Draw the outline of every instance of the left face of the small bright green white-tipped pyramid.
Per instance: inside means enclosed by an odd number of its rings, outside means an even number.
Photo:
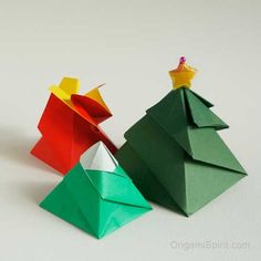
[[[100,195],[80,165],[63,178],[40,206],[94,237],[98,233]]]

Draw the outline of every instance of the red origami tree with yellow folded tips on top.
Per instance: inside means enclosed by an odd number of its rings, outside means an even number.
[[[112,114],[98,87],[85,95],[77,94],[79,80],[64,77],[51,95],[38,125],[41,139],[31,154],[65,175],[93,144],[102,140],[114,154],[116,147],[98,124]]]

